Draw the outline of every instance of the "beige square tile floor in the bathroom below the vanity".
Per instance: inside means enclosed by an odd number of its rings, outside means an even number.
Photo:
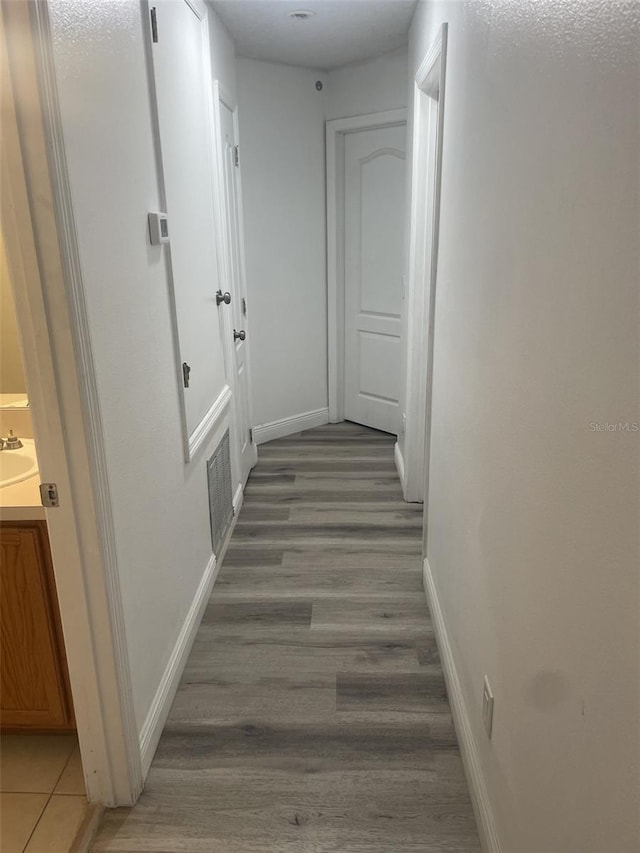
[[[69,853],[88,810],[75,735],[0,738],[2,853]]]

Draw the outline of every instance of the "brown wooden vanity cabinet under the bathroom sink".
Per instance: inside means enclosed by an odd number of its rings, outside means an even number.
[[[0,522],[0,726],[75,728],[44,521]]]

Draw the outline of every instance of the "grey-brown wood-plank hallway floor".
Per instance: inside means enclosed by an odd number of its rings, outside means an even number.
[[[260,448],[170,718],[107,851],[480,850],[393,439]]]

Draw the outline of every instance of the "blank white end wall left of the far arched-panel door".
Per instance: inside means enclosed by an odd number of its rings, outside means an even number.
[[[323,74],[239,59],[253,415],[327,407]]]

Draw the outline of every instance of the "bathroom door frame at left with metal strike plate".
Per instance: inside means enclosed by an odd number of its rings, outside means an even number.
[[[40,475],[60,499],[45,517],[86,792],[132,805],[140,742],[48,7],[0,11],[2,219]]]

